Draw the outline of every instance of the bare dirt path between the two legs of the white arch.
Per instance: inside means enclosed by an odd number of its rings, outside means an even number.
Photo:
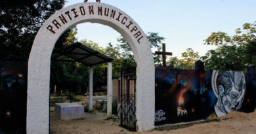
[[[84,119],[70,121],[62,121],[51,112],[50,120],[51,133],[129,133],[118,126],[118,120],[106,120],[102,112],[85,112]]]

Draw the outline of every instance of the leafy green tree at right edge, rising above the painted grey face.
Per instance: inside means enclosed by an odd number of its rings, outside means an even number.
[[[213,32],[204,40],[205,44],[219,46],[202,56],[206,69],[244,71],[248,63],[253,63],[256,22],[245,23],[235,31],[233,36],[220,31]]]

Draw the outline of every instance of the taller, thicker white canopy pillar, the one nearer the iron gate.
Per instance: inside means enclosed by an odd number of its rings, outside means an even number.
[[[113,97],[113,84],[112,84],[112,63],[108,62],[108,99],[107,99],[107,118],[112,118],[112,97]]]

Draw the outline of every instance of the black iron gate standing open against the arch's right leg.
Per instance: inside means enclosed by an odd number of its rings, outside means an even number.
[[[136,131],[136,68],[121,71],[121,126]]]

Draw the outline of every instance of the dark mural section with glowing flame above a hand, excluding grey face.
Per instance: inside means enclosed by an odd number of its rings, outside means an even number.
[[[211,89],[211,73],[156,69],[156,112],[165,113],[165,120],[156,118],[156,125],[207,118],[217,102]]]

